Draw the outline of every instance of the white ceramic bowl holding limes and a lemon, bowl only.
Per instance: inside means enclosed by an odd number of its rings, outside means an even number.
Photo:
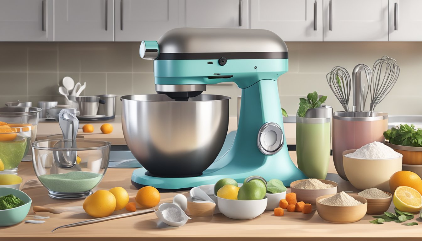
[[[231,200],[217,198],[218,208],[222,214],[232,219],[253,219],[260,216],[267,207],[268,197],[260,200]]]

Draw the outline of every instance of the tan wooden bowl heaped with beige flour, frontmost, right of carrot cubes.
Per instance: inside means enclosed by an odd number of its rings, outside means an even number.
[[[357,222],[365,216],[367,208],[367,200],[356,194],[339,192],[317,198],[319,217],[327,222]]]

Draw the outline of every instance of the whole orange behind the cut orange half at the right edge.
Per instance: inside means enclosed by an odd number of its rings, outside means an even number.
[[[398,171],[390,177],[390,190],[394,193],[397,187],[406,186],[422,194],[422,179],[411,171]]]

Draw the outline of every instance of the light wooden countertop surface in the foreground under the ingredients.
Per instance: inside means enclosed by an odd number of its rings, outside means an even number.
[[[296,153],[289,152],[292,159],[296,160]],[[129,195],[135,195],[137,190],[130,184],[133,169],[109,168],[103,181],[96,189],[110,189],[124,187]],[[32,163],[22,162],[18,174],[25,181],[35,179]],[[327,179],[338,182],[338,191],[356,191],[349,182],[342,180],[335,174],[333,161],[330,162]],[[32,198],[32,205],[59,207],[79,206],[83,200],[56,200],[49,198],[47,190],[40,186],[24,185],[23,189]],[[289,189],[288,191],[289,192]],[[171,202],[174,193],[161,193],[162,202]],[[393,211],[393,206],[390,206]],[[371,215],[359,222],[350,224],[332,224],[323,221],[317,212],[312,214],[289,213],[284,217],[275,217],[272,211],[264,212],[259,217],[250,220],[235,220],[216,214],[213,217],[193,217],[183,227],[160,228],[154,213],[143,214],[135,217],[115,219],[90,225],[64,228],[50,231],[57,226],[89,219],[84,212],[64,212],[62,214],[38,213],[50,216],[43,224],[29,224],[21,222],[12,227],[0,227],[0,240],[4,241],[46,241],[46,240],[99,240],[99,241],[127,241],[127,240],[421,240],[422,223],[418,226],[407,227],[395,222],[382,225],[369,223],[373,220]],[[25,218],[33,219],[32,209]],[[0,217],[1,218],[1,217]]]

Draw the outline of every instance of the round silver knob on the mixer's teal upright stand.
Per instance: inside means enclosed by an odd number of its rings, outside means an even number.
[[[273,155],[281,150],[284,144],[284,134],[280,126],[274,122],[267,122],[258,132],[258,149],[265,155]]]

